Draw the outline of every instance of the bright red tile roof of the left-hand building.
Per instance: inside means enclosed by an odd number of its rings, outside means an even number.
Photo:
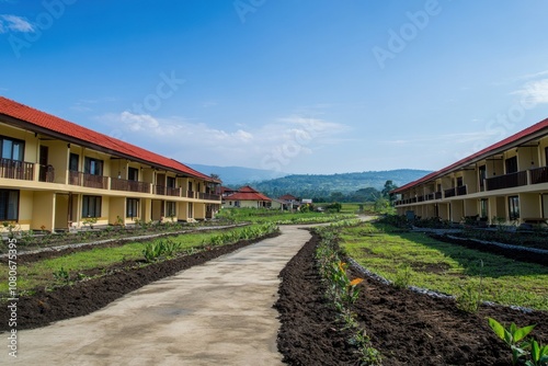
[[[127,144],[107,135],[96,133],[92,129],[82,127],[66,119],[56,117],[45,112],[32,108],[24,104],[14,102],[7,98],[0,96],[0,115],[13,117],[31,125],[44,128],[52,133],[67,136],[82,142],[91,144],[93,146],[106,149],[109,152],[116,155],[124,155],[150,163],[158,168],[183,173],[186,175],[201,178],[209,182],[219,182],[210,176],[203,174],[185,164],[160,156],[158,153],[145,150],[135,145]]]

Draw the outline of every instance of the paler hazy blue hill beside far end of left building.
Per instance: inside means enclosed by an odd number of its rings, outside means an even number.
[[[275,172],[263,169],[243,168],[243,167],[216,167],[204,164],[186,165],[197,170],[204,174],[217,174],[222,181],[224,185],[244,185],[247,183],[262,182],[287,175],[287,173]]]

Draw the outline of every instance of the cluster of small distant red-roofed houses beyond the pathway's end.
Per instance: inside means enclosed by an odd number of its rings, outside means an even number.
[[[247,207],[294,210],[298,209],[304,203],[290,194],[285,194],[278,198],[270,198],[249,185],[238,190],[222,186],[220,187],[220,194],[222,196],[222,207],[226,208]]]

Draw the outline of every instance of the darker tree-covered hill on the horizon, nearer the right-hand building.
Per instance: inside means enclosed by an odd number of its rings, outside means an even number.
[[[293,174],[253,184],[258,191],[279,197],[286,193],[298,197],[330,196],[333,192],[349,194],[373,187],[381,191],[386,181],[397,186],[415,181],[431,173],[426,170],[398,169],[342,174]]]

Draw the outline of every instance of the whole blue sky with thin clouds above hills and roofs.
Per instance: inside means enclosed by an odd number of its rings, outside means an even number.
[[[548,117],[548,2],[0,0],[0,94],[185,163],[437,170]]]

